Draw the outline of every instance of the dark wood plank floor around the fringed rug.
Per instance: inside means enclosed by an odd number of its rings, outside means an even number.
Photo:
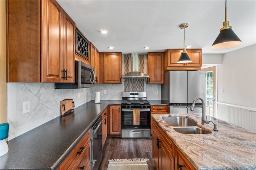
[[[152,159],[152,139],[107,138],[100,170],[108,169],[109,159],[148,158],[148,169],[156,170]]]

